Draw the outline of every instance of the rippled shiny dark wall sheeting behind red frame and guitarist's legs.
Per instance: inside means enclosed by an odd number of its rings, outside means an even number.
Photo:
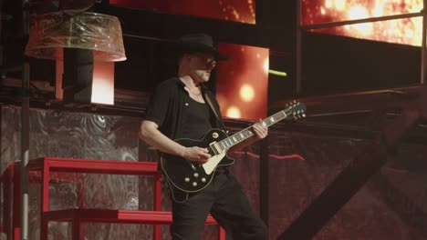
[[[20,109],[1,108],[1,167],[19,159]],[[74,157],[154,161],[155,152],[138,140],[139,117],[91,115],[32,109],[30,158]],[[269,230],[276,239],[370,141],[273,129],[269,135]],[[234,153],[231,167],[259,210],[259,145]],[[425,145],[402,145],[401,153],[351,198],[314,239],[425,239],[427,237],[427,156]],[[99,161],[102,161],[99,160]],[[378,159],[371,159],[377,161]],[[424,165],[424,167],[423,167]],[[85,175],[85,205],[94,208],[151,209],[152,179]],[[38,239],[39,185],[30,185],[29,239]],[[77,206],[76,185],[50,188],[51,209]],[[168,197],[162,198],[168,209]],[[52,223],[49,239],[69,239],[71,225]],[[151,239],[148,225],[86,225],[87,239]],[[209,226],[203,239],[215,239]],[[162,239],[169,239],[163,226]]]

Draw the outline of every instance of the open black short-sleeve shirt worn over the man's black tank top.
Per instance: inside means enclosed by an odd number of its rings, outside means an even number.
[[[182,135],[182,111],[185,105],[186,96],[188,92],[184,89],[184,84],[178,77],[172,77],[166,81],[161,82],[151,96],[147,112],[144,117],[145,120],[152,121],[159,125],[159,130],[163,135],[171,139],[185,137]],[[219,115],[219,120],[214,117],[213,125],[215,127],[224,129],[220,107],[213,93],[202,86],[203,98],[209,95],[215,108],[216,113]],[[207,101],[205,100],[207,103]],[[212,109],[211,109],[212,111]],[[211,115],[214,116],[212,113]]]

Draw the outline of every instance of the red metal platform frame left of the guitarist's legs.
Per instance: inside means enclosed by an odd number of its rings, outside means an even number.
[[[17,162],[15,169],[20,169]],[[29,171],[41,171],[41,225],[40,239],[47,240],[48,222],[72,222],[72,239],[80,239],[83,235],[81,223],[119,223],[119,224],[150,224],[154,225],[153,239],[161,239],[161,226],[172,223],[172,213],[161,211],[161,172],[157,170],[157,163],[153,162],[130,162],[117,160],[89,160],[76,158],[37,158],[28,163]],[[154,177],[154,206],[153,211],[130,211],[111,209],[65,209],[49,210],[49,179],[55,172],[80,173],[80,174],[105,174],[105,175],[151,175]],[[15,186],[19,186],[19,171],[15,171]],[[69,179],[68,179],[69,180]],[[83,182],[82,182],[83,183]],[[84,183],[83,183],[84,184]],[[14,239],[19,237],[19,187],[14,188]],[[82,190],[84,187],[82,188]],[[82,206],[83,196],[78,200]],[[205,222],[206,225],[216,225],[211,215]],[[224,229],[218,225],[218,239],[225,239]]]

